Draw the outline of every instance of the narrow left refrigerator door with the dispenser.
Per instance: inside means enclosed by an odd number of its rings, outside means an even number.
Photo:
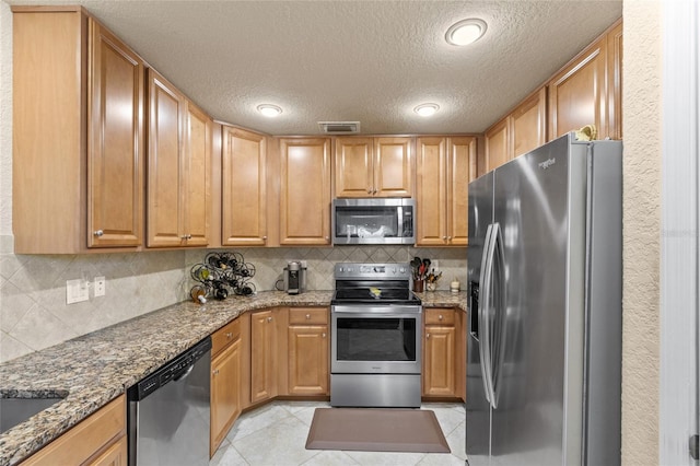
[[[493,173],[487,173],[469,184],[469,246],[467,267],[469,282],[469,322],[467,325],[467,429],[466,453],[469,466],[489,464],[491,409],[485,392],[479,349],[481,333],[478,304],[481,258],[487,229],[493,221]]]

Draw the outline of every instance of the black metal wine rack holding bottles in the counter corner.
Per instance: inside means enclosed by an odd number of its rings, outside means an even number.
[[[255,284],[250,282],[255,266],[240,253],[209,253],[201,264],[192,266],[190,276],[197,282],[189,292],[196,303],[203,304],[209,298],[225,300],[231,293],[244,296],[255,293]]]

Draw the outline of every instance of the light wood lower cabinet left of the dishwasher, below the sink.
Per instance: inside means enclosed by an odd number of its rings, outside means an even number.
[[[22,463],[26,466],[127,465],[127,405],[120,395]]]

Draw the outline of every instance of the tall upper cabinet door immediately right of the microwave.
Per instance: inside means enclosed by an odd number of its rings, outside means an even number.
[[[446,238],[446,138],[418,138],[416,168],[416,244],[442,246]]]

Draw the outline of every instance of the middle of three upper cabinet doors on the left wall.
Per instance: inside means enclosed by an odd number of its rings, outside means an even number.
[[[183,95],[149,69],[148,245],[179,246],[183,224]]]

